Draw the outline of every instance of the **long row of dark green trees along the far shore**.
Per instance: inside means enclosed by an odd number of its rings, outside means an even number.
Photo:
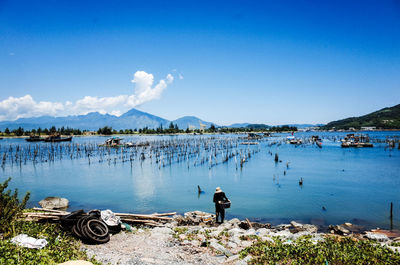
[[[80,130],[73,129],[69,127],[61,127],[56,128],[52,126],[51,128],[38,128],[32,130],[25,130],[22,127],[18,129],[10,130],[6,128],[3,131],[0,131],[0,135],[2,136],[30,136],[30,135],[113,135],[113,134],[176,134],[176,133],[246,133],[246,132],[287,132],[287,131],[297,131],[297,127],[294,126],[272,126],[272,127],[241,127],[241,128],[231,128],[231,127],[216,127],[214,124],[207,129],[189,129],[186,128],[180,129],[177,124],[173,124],[172,122],[168,127],[164,128],[160,125],[158,128],[149,128],[144,127],[141,129],[125,129],[125,130],[115,130],[110,126],[105,126],[103,128],[99,128],[97,132],[88,131],[88,130]]]

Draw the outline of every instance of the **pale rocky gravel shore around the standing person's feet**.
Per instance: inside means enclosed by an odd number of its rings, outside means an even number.
[[[360,231],[359,227],[346,223],[331,226],[323,233],[315,225],[294,221],[271,226],[234,218],[216,224],[212,217],[199,211],[175,215],[172,222],[162,226],[132,227],[131,231],[113,235],[106,244],[82,245],[82,249],[103,264],[241,265],[252,259],[243,250],[255,242],[273,242],[280,238],[283,244],[292,244],[307,236],[315,244],[327,237],[350,237],[354,241],[370,239],[400,252],[400,235],[393,231]]]

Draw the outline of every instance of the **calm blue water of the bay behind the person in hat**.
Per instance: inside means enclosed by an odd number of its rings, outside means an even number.
[[[383,143],[375,144],[374,148],[342,149],[337,140],[343,133],[319,133],[323,148],[313,144],[296,147],[282,141],[287,135],[265,138],[259,145],[251,146],[236,146],[241,142],[237,138],[243,135],[122,136],[125,141],[135,142],[184,141],[186,155],[172,157],[171,163],[167,155],[174,150],[171,145],[170,149],[164,147],[164,152],[159,151],[161,148],[149,147],[125,149],[122,154],[120,150],[88,151],[88,157],[82,149],[98,149],[97,144],[103,143],[105,137],[75,137],[71,144],[61,145],[4,139],[0,141],[0,155],[8,155],[0,168],[0,181],[12,177],[10,187],[18,188],[21,193],[30,191],[30,206],[37,205],[44,197],[60,196],[70,200],[71,210],[98,208],[135,213],[213,212],[213,192],[220,186],[232,201],[227,211],[229,217],[274,224],[297,220],[319,225],[353,222],[389,228],[389,205],[393,202],[393,226],[400,228],[397,145],[394,149],[386,148]],[[295,136],[308,139],[311,135],[297,133]],[[385,139],[400,132],[369,135]],[[231,144],[229,148],[227,143]],[[199,152],[189,154],[196,144],[202,146]],[[51,148],[59,146],[64,155],[50,161]],[[67,151],[71,146],[80,148],[79,155]],[[29,159],[34,147],[40,147],[44,156],[36,163]],[[12,162],[17,153],[25,156],[26,161]],[[226,155],[233,153],[236,155],[222,163]],[[281,163],[274,162],[275,153]],[[247,161],[241,168],[239,161],[244,156]],[[303,186],[299,186],[301,177]],[[197,185],[205,191],[200,196]]]

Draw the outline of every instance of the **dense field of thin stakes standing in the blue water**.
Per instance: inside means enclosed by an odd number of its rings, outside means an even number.
[[[173,164],[188,168],[205,166],[210,169],[234,161],[236,169],[242,168],[259,146],[241,145],[240,137],[196,137],[156,139],[137,142],[132,147],[100,146],[99,143],[21,143],[0,145],[1,167],[22,167],[63,160],[80,160],[93,163],[149,162],[159,169]]]

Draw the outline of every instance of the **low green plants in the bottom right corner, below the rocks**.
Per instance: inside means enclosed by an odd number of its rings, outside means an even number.
[[[251,255],[250,264],[400,264],[400,254],[373,241],[348,237],[326,237],[313,243],[301,237],[291,244],[279,238],[274,242],[258,241],[241,251],[241,258]]]

